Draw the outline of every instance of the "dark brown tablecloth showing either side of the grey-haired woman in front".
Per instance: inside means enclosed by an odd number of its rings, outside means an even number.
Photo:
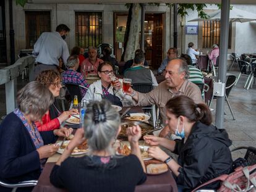
[[[56,188],[49,181],[49,175],[53,169],[55,163],[48,162],[45,164],[45,168],[40,175],[38,184],[33,188],[33,192],[65,192],[67,190]],[[171,171],[162,173],[160,175],[148,175],[147,181],[142,185],[138,185],[135,188],[136,192],[153,192],[153,191],[163,191],[163,192],[176,192],[177,185],[173,178]]]

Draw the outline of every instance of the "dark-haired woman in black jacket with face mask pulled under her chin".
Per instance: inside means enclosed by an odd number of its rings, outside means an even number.
[[[198,185],[228,174],[232,168],[229,151],[232,141],[226,130],[211,125],[211,112],[205,104],[195,104],[187,96],[177,96],[166,104],[166,124],[181,140],[171,141],[153,135],[144,136],[151,145],[149,155],[168,164],[179,191],[192,191]],[[178,154],[177,162],[158,145]],[[220,183],[207,188],[216,189]]]

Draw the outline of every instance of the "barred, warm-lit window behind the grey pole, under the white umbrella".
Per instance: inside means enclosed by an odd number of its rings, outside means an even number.
[[[203,48],[211,48],[213,44],[220,45],[220,21],[203,21]],[[229,23],[228,49],[231,49],[232,23]]]

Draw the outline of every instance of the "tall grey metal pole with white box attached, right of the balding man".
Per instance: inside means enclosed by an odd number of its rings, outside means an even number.
[[[227,59],[228,59],[228,33],[229,33],[229,7],[230,0],[221,0],[221,36],[220,36],[220,62],[218,80],[226,83]],[[225,84],[226,85],[226,84]],[[226,94],[226,93],[225,93]],[[224,128],[224,104],[225,96],[217,97],[216,119],[217,128]]]

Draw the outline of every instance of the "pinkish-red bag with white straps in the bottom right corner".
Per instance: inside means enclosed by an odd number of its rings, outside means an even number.
[[[256,192],[256,164],[247,167],[237,167],[233,173],[213,178],[212,180],[198,186],[192,192],[195,192],[210,183],[218,181],[221,182],[221,186],[217,190],[218,192]]]

